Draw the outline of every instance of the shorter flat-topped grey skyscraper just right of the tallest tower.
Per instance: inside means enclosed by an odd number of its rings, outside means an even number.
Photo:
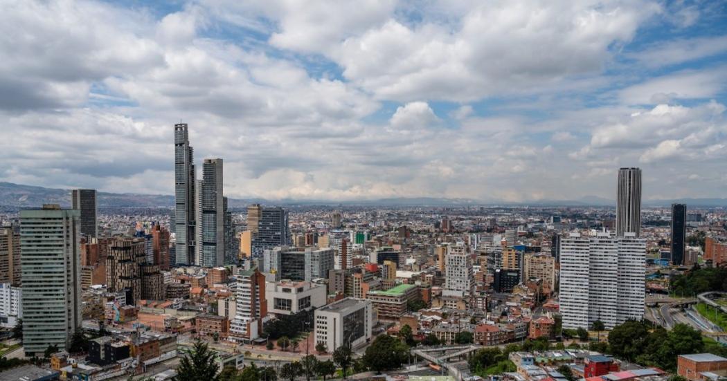
[[[222,196],[222,159],[204,159],[201,181],[201,263],[222,266],[225,262],[225,200]]]

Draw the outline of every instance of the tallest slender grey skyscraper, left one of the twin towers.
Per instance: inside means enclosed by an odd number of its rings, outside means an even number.
[[[177,265],[188,265],[195,254],[196,176],[193,149],[186,123],[174,125],[174,255]]]

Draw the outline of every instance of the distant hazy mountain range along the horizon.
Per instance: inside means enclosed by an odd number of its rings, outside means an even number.
[[[0,206],[4,208],[35,208],[47,203],[71,205],[71,190],[35,187],[31,185],[0,182]],[[170,208],[174,206],[174,196],[169,194],[137,194],[137,193],[111,193],[98,192],[99,208]],[[727,207],[724,198],[684,198],[676,200],[644,200],[644,206],[669,206],[674,202],[684,203],[694,207]],[[532,200],[526,202],[504,202],[497,200],[471,200],[462,198],[438,197],[398,197],[379,200],[264,200],[264,199],[234,199],[228,200],[230,208],[244,208],[251,203],[264,205],[361,205],[361,206],[435,206],[457,207],[478,205],[502,206],[612,206],[616,201],[597,196],[585,196],[577,200]]]

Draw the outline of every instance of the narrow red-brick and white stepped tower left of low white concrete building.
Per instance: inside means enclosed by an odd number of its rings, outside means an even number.
[[[230,324],[230,338],[238,342],[257,339],[268,315],[265,299],[265,276],[257,269],[241,270],[237,276],[235,319]]]

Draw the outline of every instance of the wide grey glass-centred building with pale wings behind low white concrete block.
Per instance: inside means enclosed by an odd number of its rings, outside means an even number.
[[[263,271],[276,274],[276,279],[310,282],[327,278],[334,269],[334,250],[318,247],[275,247],[263,254]]]

